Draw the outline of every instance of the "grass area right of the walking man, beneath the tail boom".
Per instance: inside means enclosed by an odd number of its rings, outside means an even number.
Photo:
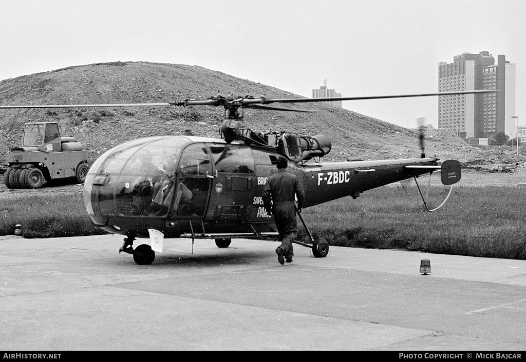
[[[426,200],[433,208],[445,197],[443,187],[431,187]],[[518,188],[457,187],[446,205],[428,212],[416,187],[396,185],[318,205],[303,216],[330,245],[526,259],[525,204]]]

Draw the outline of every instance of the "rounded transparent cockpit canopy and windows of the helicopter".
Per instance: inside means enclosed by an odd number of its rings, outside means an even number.
[[[270,156],[267,161],[270,163]],[[90,216],[203,216],[210,180],[255,173],[255,159],[245,144],[200,137],[149,137],[129,141],[104,153],[84,182]],[[183,205],[186,203],[187,207]]]

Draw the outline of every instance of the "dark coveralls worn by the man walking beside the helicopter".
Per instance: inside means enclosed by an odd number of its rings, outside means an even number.
[[[301,210],[305,201],[305,192],[295,174],[288,173],[285,169],[279,169],[278,172],[268,178],[263,202],[265,209],[274,214],[274,221],[281,241],[281,245],[278,247],[287,257],[294,255],[292,241],[296,240],[296,233],[298,232],[294,195],[297,195],[298,209]],[[272,206],[270,200],[272,200]]]

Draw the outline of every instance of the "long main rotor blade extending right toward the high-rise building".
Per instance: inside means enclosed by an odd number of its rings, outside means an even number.
[[[365,97],[329,97],[329,98],[286,98],[286,99],[268,99],[268,98],[245,98],[242,99],[242,104],[269,104],[269,103],[309,103],[309,102],[327,102],[335,100],[365,100],[365,99],[387,99],[387,98],[410,98],[410,97],[429,97],[429,96],[452,96],[462,94],[485,94],[494,93],[498,90],[464,90],[452,92],[438,92],[438,93],[422,93],[422,94],[404,94],[394,96],[365,96]]]

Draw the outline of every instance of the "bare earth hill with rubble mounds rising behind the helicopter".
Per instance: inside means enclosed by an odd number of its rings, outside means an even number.
[[[227,96],[301,98],[277,88],[199,66],[125,62],[90,64],[0,81],[0,105],[121,104],[174,102],[186,98]],[[245,110],[245,125],[256,131],[323,133],[332,140],[324,161],[418,158],[416,132],[325,104],[280,105],[319,113]],[[24,122],[57,121],[63,136],[74,136],[89,151],[89,162],[119,143],[138,137],[176,135],[219,137],[224,110],[219,107],[115,107],[0,110],[0,163],[19,145]],[[494,171],[524,172],[526,157],[509,147],[490,151],[466,144],[451,132],[437,130],[426,139],[428,157],[457,159]]]

